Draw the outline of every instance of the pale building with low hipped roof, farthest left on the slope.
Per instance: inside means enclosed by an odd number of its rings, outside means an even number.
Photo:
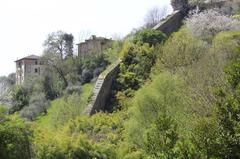
[[[44,72],[41,57],[30,55],[21,58],[16,62],[16,84],[23,84],[31,76],[41,76]]]

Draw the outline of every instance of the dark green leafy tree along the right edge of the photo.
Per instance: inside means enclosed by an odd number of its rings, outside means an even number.
[[[240,49],[239,49],[240,50]],[[240,51],[239,51],[240,53]],[[239,55],[238,55],[239,56]],[[230,90],[220,91],[217,102],[217,120],[220,129],[221,158],[240,158],[240,60],[239,57],[227,66]]]

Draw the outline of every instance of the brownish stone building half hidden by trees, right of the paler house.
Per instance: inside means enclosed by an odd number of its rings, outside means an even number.
[[[86,57],[88,55],[102,54],[106,48],[111,46],[111,43],[111,39],[96,37],[95,35],[92,35],[90,39],[77,44],[78,56]]]

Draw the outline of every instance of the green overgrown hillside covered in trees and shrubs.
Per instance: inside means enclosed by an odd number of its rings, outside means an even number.
[[[171,33],[141,28],[100,56],[61,59],[46,43],[56,63],[14,88],[13,114],[0,107],[0,158],[240,158],[240,7],[227,10],[237,4],[187,14],[184,3]],[[84,113],[113,66],[107,104]]]

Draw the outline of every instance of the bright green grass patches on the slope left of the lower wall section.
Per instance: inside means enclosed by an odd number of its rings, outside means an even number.
[[[94,85],[93,83],[90,83],[85,84],[81,87],[81,94],[79,95],[80,103],[78,104],[79,107],[81,107],[83,110],[88,103],[89,96],[92,94],[93,85]],[[37,120],[35,121],[35,124],[42,128],[54,129],[54,126],[52,124],[52,118],[59,112],[59,109],[61,109],[62,105],[65,104],[66,100],[64,99],[64,97],[53,100],[48,109],[47,115],[42,115],[38,117]]]

